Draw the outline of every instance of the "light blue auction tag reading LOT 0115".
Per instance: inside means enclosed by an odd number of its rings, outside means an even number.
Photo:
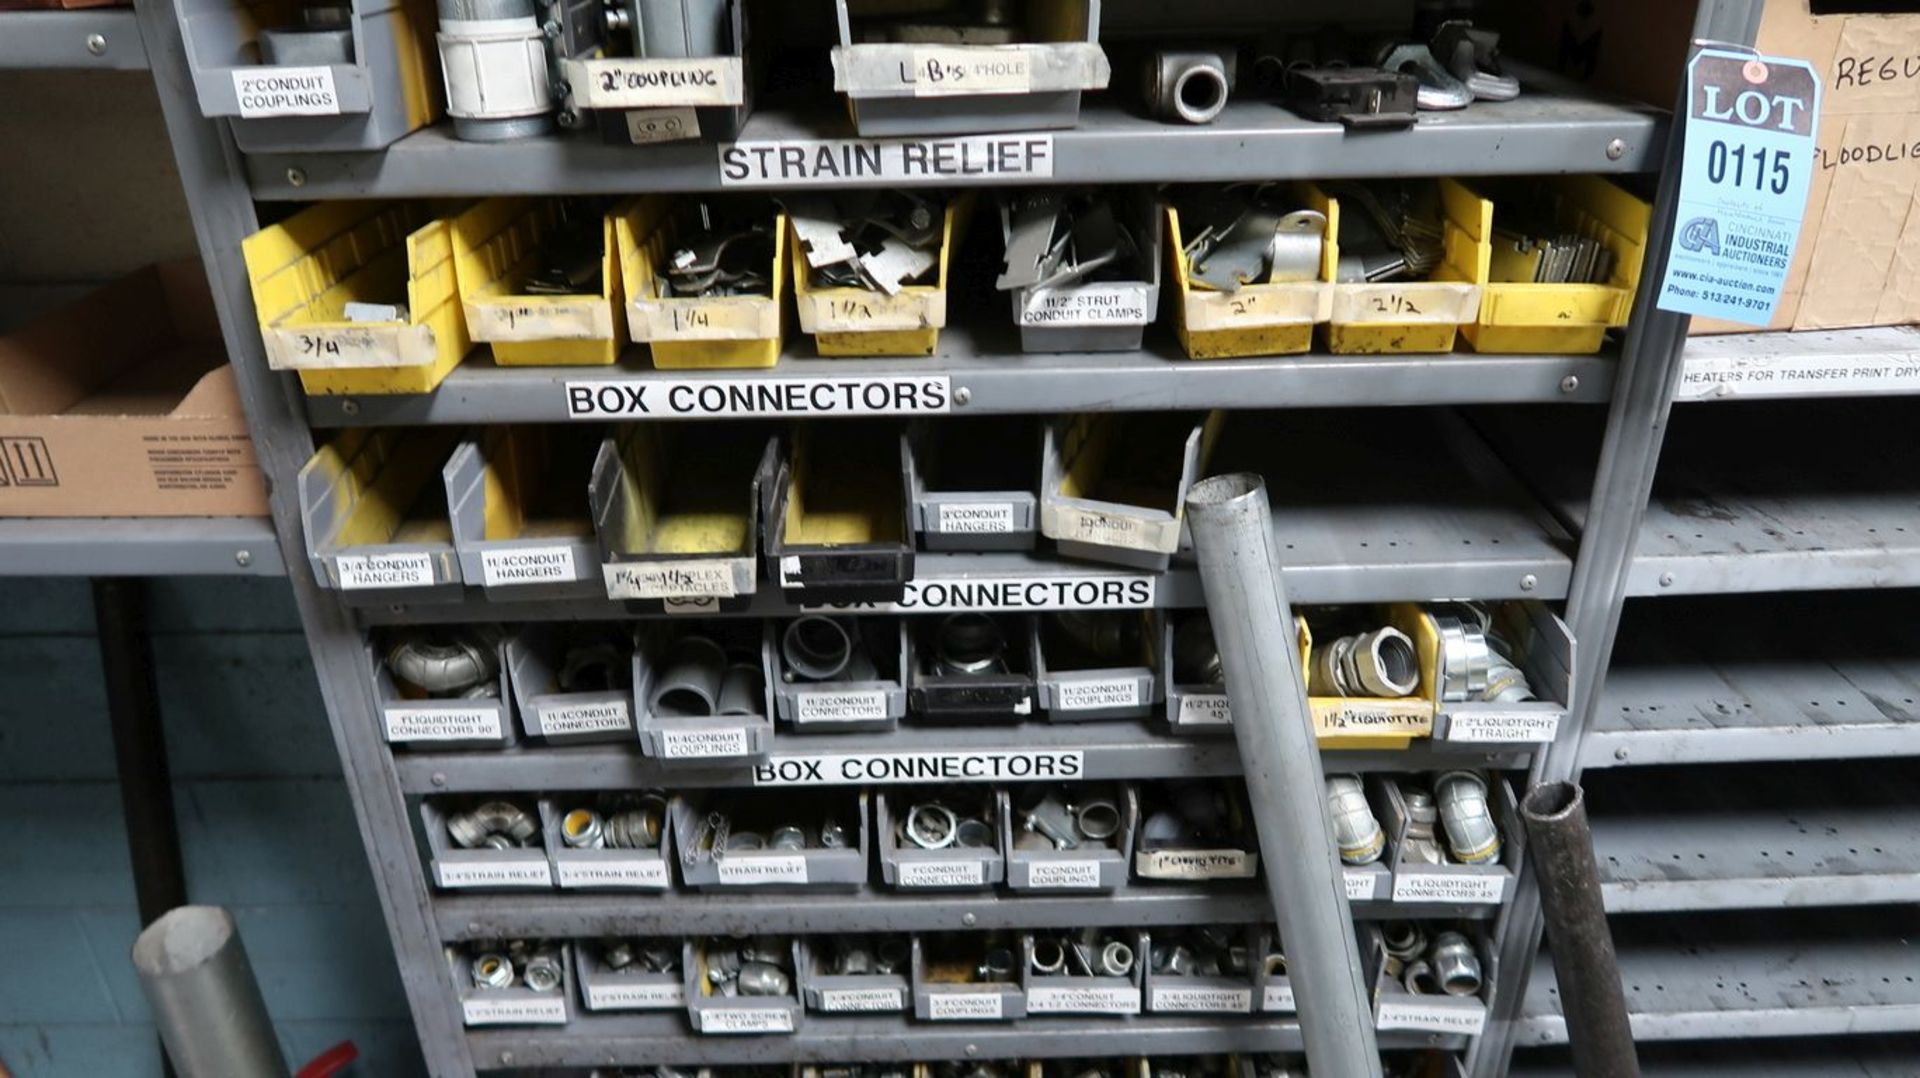
[[[1772,321],[1807,213],[1818,121],[1820,79],[1805,60],[1693,56],[1663,309]]]

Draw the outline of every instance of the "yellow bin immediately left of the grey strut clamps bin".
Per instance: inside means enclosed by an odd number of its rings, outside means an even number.
[[[816,288],[799,236],[789,236],[801,331],[814,336],[822,355],[933,355],[947,327],[947,263],[972,215],[972,192],[947,200],[941,267],[933,284],[908,284],[897,296],[866,288]]]

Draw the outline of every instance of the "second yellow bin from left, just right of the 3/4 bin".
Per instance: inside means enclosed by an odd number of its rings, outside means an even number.
[[[526,277],[540,265],[540,246],[563,225],[553,198],[488,198],[453,219],[461,298],[474,340],[493,346],[501,367],[607,367],[626,346],[620,309],[620,259],[614,219],[601,219],[601,286],[597,294],[528,296]]]

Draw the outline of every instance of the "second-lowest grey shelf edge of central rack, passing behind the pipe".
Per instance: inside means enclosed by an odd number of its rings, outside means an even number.
[[[1486,920],[1500,905],[1354,903],[1367,920]],[[1129,884],[1112,895],[925,894],[862,888],[847,894],[515,894],[434,897],[444,940],[733,936],[743,932],[943,932],[1058,924],[1269,924],[1260,884]]]

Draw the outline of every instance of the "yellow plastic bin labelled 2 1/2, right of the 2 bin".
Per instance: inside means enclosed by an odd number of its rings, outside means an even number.
[[[1327,350],[1342,355],[1452,352],[1459,327],[1480,311],[1476,273],[1486,265],[1494,234],[1494,204],[1463,184],[1432,181],[1446,234],[1444,261],[1427,281],[1342,282],[1340,223],[1357,208],[1319,186],[1306,204],[1327,215],[1325,277],[1332,281]]]

